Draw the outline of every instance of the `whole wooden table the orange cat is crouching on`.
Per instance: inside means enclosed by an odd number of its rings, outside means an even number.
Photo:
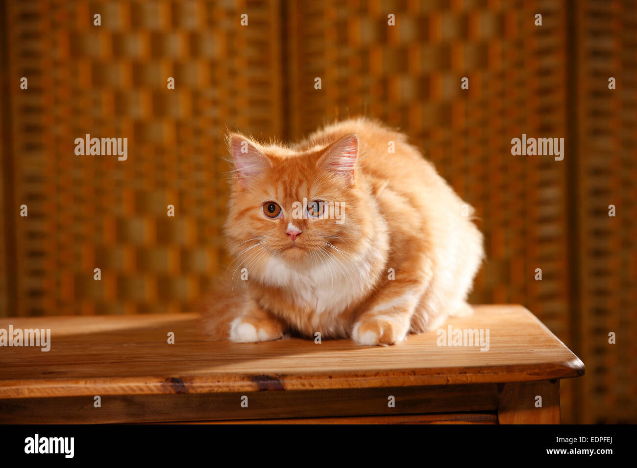
[[[215,343],[196,314],[2,318],[50,329],[51,347],[0,347],[0,422],[559,423],[559,379],[582,361],[522,306],[474,309],[443,329],[489,330],[488,351],[436,332]]]

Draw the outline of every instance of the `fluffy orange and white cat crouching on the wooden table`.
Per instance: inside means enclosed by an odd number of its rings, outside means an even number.
[[[205,306],[212,339],[387,346],[471,313],[474,210],[404,134],[359,117],[294,145],[231,133],[228,146],[234,260]]]

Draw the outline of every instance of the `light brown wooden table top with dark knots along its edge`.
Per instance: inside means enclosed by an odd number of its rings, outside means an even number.
[[[584,373],[582,361],[517,305],[474,306],[473,315],[387,347],[347,339],[213,342],[192,313],[0,318],[0,329],[10,325],[50,329],[50,351],[0,347],[0,399],[501,383]],[[454,346],[441,331],[450,329],[455,344],[472,335],[462,330],[479,336],[482,329],[484,346]],[[488,350],[481,351],[487,331]]]

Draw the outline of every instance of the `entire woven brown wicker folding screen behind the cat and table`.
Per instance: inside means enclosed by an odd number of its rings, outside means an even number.
[[[562,421],[637,422],[635,1],[0,5],[0,316],[191,310],[225,263],[224,129],[363,113],[477,209],[471,300],[524,304],[582,357]],[[77,157],[86,133],[127,137],[129,159]],[[523,133],[566,157],[512,156]]]

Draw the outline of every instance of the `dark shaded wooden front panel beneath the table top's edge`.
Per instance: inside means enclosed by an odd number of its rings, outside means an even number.
[[[389,396],[394,406],[389,406]],[[247,400],[243,400],[247,397]],[[247,401],[247,407],[241,402]],[[0,399],[1,423],[131,423],[497,411],[497,384]]]

